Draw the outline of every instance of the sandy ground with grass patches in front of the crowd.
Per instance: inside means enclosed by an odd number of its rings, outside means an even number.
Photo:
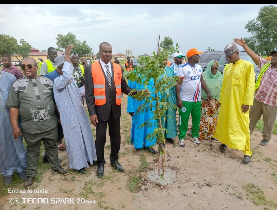
[[[177,177],[172,183],[161,186],[147,177],[149,171],[157,170],[157,155],[145,150],[136,151],[128,143],[131,117],[126,113],[126,103],[127,96],[124,95],[119,154],[119,162],[125,169],[123,173],[115,171],[109,164],[110,146],[107,135],[105,174],[102,178],[96,176],[96,166],[88,168],[86,174],[71,171],[67,176],[54,174],[49,168],[42,175],[41,182],[35,181],[30,188],[33,191],[47,190],[47,193],[9,193],[0,197],[0,209],[277,209],[276,135],[273,135],[268,146],[260,146],[262,133],[253,133],[253,155],[249,164],[241,162],[242,151],[227,148],[225,153],[220,153],[219,141],[201,140],[201,145],[195,146],[187,135],[186,146],[181,148],[178,146],[178,138],[175,138],[176,145],[166,144],[165,167],[175,169]],[[93,133],[95,134],[94,128]],[[154,148],[157,149],[157,146]],[[59,157],[63,164],[66,163],[64,167],[68,168],[66,151],[59,151]],[[150,165],[139,172],[141,157],[145,157]],[[132,193],[128,183],[130,178],[139,175],[139,187]],[[23,184],[22,181],[12,189],[24,189]],[[252,190],[260,189],[259,199],[257,196],[252,199],[250,186],[255,186]],[[19,203],[10,204],[10,198],[19,198],[15,200]]]

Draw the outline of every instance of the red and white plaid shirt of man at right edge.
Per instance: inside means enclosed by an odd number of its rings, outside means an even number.
[[[263,67],[266,62],[268,60],[261,58],[259,65]],[[260,87],[256,90],[255,98],[266,105],[277,106],[277,69],[273,69],[271,64],[261,77]]]

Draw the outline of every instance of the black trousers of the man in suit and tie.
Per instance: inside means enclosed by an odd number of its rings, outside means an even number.
[[[118,159],[118,153],[120,150],[120,118],[114,119],[111,110],[109,119],[107,121],[98,120],[98,123],[96,123],[95,148],[97,164],[99,166],[106,163],[104,159],[104,146],[106,144],[107,123],[109,124],[109,136],[111,139],[111,163],[114,163]]]

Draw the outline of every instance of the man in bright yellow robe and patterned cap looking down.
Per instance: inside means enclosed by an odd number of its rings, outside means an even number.
[[[232,42],[224,48],[228,64],[225,66],[220,91],[220,110],[214,137],[226,147],[242,150],[243,163],[251,161],[249,107],[253,105],[255,91],[254,65],[242,60],[237,45]]]

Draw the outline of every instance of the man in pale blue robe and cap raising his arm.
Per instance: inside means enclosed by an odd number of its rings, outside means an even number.
[[[89,168],[88,163],[93,164],[96,150],[81,94],[72,77],[74,68],[68,62],[71,48],[73,45],[68,45],[65,55],[55,59],[60,77],[54,80],[53,90],[63,127],[69,166],[79,173],[86,173],[84,168]]]

